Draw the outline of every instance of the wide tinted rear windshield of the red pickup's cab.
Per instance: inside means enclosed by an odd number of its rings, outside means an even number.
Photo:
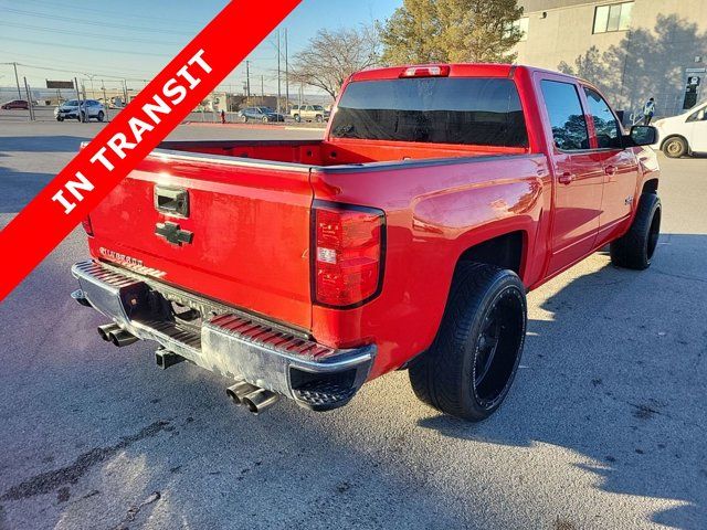
[[[348,85],[335,138],[527,147],[518,91],[507,78],[424,77]]]

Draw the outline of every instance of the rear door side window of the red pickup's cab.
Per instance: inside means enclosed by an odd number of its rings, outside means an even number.
[[[540,83],[540,87],[555,145],[563,151],[589,149],[587,119],[577,87],[570,83],[547,80]]]

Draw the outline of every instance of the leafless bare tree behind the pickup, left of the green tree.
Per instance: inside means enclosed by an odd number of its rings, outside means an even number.
[[[379,46],[373,28],[319,30],[294,56],[292,78],[336,97],[349,75],[379,63]]]

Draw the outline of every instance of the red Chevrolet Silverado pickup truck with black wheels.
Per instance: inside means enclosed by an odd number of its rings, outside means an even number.
[[[348,403],[408,369],[478,421],[514,380],[526,292],[611,244],[651,264],[655,129],[591,84],[526,66],[352,75],[324,140],[170,141],[84,223],[73,297],[116,346],[159,343],[258,412]]]

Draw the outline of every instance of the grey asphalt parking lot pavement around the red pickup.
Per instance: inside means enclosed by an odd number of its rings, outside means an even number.
[[[97,127],[0,125],[0,224]],[[274,135],[176,131],[217,134]],[[217,375],[161,372],[68,300],[77,230],[0,305],[0,528],[707,528],[707,160],[663,167],[654,266],[597,254],[530,294],[523,369],[477,425],[404,372],[257,417]]]

